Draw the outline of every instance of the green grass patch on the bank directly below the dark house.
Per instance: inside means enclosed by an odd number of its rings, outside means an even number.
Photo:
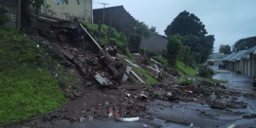
[[[96,24],[88,24],[88,23],[83,23],[85,26],[89,28],[90,33],[96,36],[100,36],[98,32],[98,26]],[[101,25],[101,40],[100,43],[103,46],[107,46],[107,32],[108,32],[108,26]],[[128,49],[127,43],[126,43],[126,37],[123,32],[118,32],[115,28],[111,28],[111,37],[110,37],[111,42],[114,42],[119,46],[120,48],[124,49],[126,52],[126,56],[130,60],[135,60],[133,56],[130,54],[130,51]]]

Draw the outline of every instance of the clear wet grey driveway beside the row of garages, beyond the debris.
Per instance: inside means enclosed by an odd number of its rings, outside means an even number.
[[[228,89],[233,89],[242,93],[255,93],[256,87],[252,86],[251,78],[245,75],[238,75],[234,72],[218,69],[218,66],[210,66],[216,72],[228,72],[229,74],[217,73],[212,78],[217,80],[229,81],[227,84]]]

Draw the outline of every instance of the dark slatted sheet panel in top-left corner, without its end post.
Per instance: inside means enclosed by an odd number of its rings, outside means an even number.
[[[18,13],[18,0],[0,0],[0,6],[8,9],[8,15],[11,19],[4,26],[6,27],[17,27],[17,13]]]

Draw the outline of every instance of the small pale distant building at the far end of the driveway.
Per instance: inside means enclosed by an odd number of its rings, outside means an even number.
[[[227,56],[229,56],[229,54],[213,53],[210,55],[210,58],[207,60],[207,63],[210,65],[219,65],[222,63],[222,60]]]

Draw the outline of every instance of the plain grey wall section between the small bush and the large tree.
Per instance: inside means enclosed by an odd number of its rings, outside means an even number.
[[[150,52],[161,53],[166,49],[167,38],[157,33],[152,33],[151,35],[148,39],[142,39],[140,47],[146,48]]]

